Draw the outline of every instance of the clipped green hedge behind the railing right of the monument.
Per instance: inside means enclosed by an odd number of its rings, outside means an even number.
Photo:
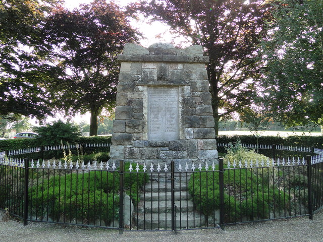
[[[236,143],[238,140],[243,144],[256,144],[257,137],[253,135],[219,135],[217,143]],[[258,144],[261,145],[286,145],[286,146],[314,146],[315,148],[323,148],[323,136],[260,136]]]

